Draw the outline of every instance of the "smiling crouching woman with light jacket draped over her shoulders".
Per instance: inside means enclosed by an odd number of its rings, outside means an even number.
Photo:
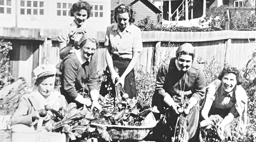
[[[217,134],[220,139],[231,141],[230,123],[240,117],[239,130],[243,132],[247,118],[247,95],[241,82],[240,72],[234,67],[224,67],[218,80],[206,88],[206,98],[202,109],[201,127],[212,124],[218,119]]]

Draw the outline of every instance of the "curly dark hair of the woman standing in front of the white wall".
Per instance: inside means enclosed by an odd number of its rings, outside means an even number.
[[[70,16],[74,16],[74,13],[76,11],[80,11],[82,9],[87,11],[87,19],[88,19],[91,15],[92,6],[86,1],[79,1],[77,3],[74,3],[70,9]]]

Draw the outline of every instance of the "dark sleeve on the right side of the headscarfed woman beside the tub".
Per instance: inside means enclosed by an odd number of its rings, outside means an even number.
[[[98,89],[97,85],[97,59],[96,55],[92,56],[92,60],[89,65],[89,78],[86,82],[89,91]]]

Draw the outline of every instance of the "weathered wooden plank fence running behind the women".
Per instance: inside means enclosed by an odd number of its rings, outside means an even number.
[[[13,43],[11,69],[15,78],[24,76],[31,80],[32,70],[41,63],[57,64],[59,59],[56,29],[29,29],[0,27],[0,39]],[[196,58],[202,61],[216,59],[238,68],[245,64],[256,49],[256,31],[215,32],[142,32],[143,52],[135,69],[144,66],[148,70],[167,57],[175,57],[177,47],[191,42],[196,47]],[[98,71],[106,68],[104,32],[98,32],[100,47],[97,49]],[[12,56],[15,56],[12,57]],[[26,67],[26,68],[24,68]],[[24,71],[25,70],[25,71]]]

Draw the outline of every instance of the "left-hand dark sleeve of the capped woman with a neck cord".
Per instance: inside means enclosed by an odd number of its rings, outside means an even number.
[[[166,78],[166,74],[168,71],[168,65],[163,62],[159,68],[158,68],[158,72],[156,74],[156,87],[155,90],[158,91],[158,94],[165,96],[166,95],[166,91],[164,90],[164,82],[165,82],[165,78]]]

